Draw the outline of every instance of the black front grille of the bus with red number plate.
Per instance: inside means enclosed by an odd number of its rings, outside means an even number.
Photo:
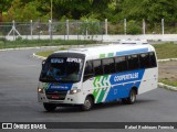
[[[64,100],[67,91],[46,91],[46,98],[52,100]]]

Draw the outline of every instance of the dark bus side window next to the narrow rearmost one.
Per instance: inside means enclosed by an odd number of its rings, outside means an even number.
[[[150,67],[150,62],[149,62],[149,54],[148,53],[144,53],[139,55],[139,64],[140,64],[140,68],[148,68]]]

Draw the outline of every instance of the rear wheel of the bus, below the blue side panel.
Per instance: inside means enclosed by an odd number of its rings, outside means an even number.
[[[122,99],[122,102],[124,105],[133,105],[133,103],[135,103],[136,102],[136,90],[132,89],[131,92],[129,92],[129,97]]]

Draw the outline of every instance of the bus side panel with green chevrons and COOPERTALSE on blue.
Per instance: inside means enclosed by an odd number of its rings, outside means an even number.
[[[83,82],[83,92],[93,95],[94,102],[127,98],[133,87],[139,87],[145,69],[93,77]]]

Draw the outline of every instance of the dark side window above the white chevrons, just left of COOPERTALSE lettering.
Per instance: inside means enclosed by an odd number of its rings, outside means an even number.
[[[103,59],[102,62],[103,62],[104,74],[115,73],[114,58],[106,58]]]

